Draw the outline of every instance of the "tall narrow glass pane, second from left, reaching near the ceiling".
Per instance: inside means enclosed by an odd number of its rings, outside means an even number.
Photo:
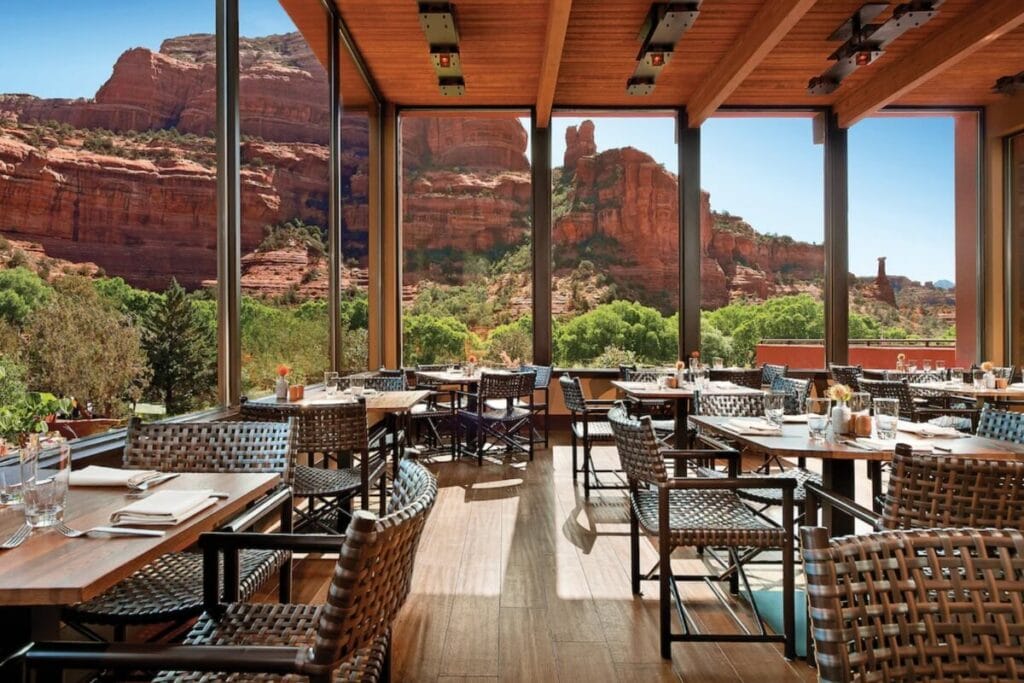
[[[278,2],[240,3],[243,393],[323,381],[328,358],[327,14],[297,27]],[[307,41],[306,36],[310,36]]]

